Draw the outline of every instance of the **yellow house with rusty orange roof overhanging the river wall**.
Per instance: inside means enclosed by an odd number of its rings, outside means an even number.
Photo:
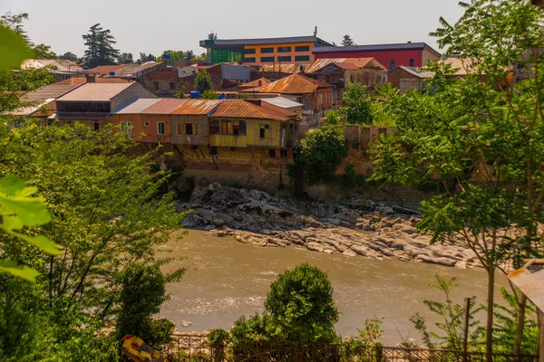
[[[222,100],[211,115],[209,145],[213,148],[276,149],[287,155],[296,138],[296,113],[261,100]],[[272,157],[272,156],[270,156]],[[287,156],[285,156],[287,157]]]

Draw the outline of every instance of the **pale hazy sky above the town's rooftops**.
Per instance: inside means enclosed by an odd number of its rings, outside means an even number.
[[[34,43],[57,53],[83,55],[82,34],[93,24],[110,29],[121,52],[160,55],[192,49],[213,30],[219,39],[311,35],[340,43],[349,33],[357,44],[425,42],[443,16],[455,23],[459,0],[0,0],[0,14],[28,13],[25,24]],[[438,49],[437,49],[438,50]]]

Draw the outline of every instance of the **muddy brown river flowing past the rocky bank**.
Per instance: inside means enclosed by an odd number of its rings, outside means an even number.
[[[486,295],[486,274],[481,270],[346,257],[297,246],[262,248],[199,230],[189,230],[181,240],[172,238],[167,246],[170,257],[186,259],[170,264],[165,271],[183,266],[187,272],[180,282],[168,285],[170,300],[162,306],[160,316],[177,323],[180,331],[230,329],[239,316],[261,312],[270,282],[301,262],[326,271],[333,282],[336,306],[341,311],[336,324],[339,334],[357,334],[364,319],[375,314],[384,317],[381,340],[386,345],[400,342],[401,335],[421,340],[408,320],[415,312],[429,322],[438,321],[423,305],[426,299],[443,299],[441,291],[428,286],[435,281],[435,273],[457,278],[460,286],[453,299],[460,303],[473,295],[484,302]],[[506,278],[500,275],[498,282],[505,285]],[[181,321],[192,325],[181,327]]]

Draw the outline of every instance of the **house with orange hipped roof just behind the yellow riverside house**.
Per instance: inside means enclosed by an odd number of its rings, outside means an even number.
[[[325,110],[333,107],[334,85],[316,81],[300,74],[292,74],[279,81],[273,81],[259,90],[259,95],[281,95],[289,100],[304,104],[303,122],[317,124]]]

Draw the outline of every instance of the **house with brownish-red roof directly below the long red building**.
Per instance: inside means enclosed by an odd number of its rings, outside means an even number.
[[[317,59],[306,68],[305,74],[317,81],[335,85],[333,102],[342,100],[349,83],[363,84],[369,92],[374,85],[382,86],[387,80],[387,69],[374,58]]]

